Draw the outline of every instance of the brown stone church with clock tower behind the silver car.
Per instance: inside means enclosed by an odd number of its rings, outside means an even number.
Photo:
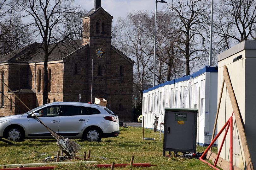
[[[131,121],[135,62],[111,45],[112,19],[101,0],[94,0],[94,8],[82,17],[83,39],[61,44],[50,54],[48,103],[78,102],[79,94],[86,103],[104,98],[119,119]],[[33,43],[0,56],[0,78],[30,109],[43,104],[42,47]],[[0,116],[27,111],[3,84],[0,91]]]

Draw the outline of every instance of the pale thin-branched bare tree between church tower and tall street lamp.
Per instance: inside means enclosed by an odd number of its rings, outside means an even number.
[[[115,29],[115,41],[117,48],[127,56],[135,60],[133,84],[140,91],[142,100],[143,86],[150,82],[153,68],[153,42],[147,22],[147,13],[129,13],[126,19],[119,19]]]

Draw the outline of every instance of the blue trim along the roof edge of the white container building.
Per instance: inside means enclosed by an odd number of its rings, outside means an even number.
[[[171,81],[161,83],[161,84],[159,84],[159,85],[157,85],[153,88],[149,88],[148,90],[143,90],[143,93],[148,93],[149,91],[152,91],[154,89],[157,89],[157,88],[160,88],[160,87],[163,87],[163,86],[166,86],[166,85],[175,84],[177,82],[182,82],[182,81],[187,81],[187,80],[190,79],[190,77],[197,77],[197,76],[200,76],[201,74],[203,74],[205,72],[218,72],[218,67],[205,66],[201,70],[199,70],[199,71],[197,71],[193,74],[190,74],[188,76],[183,76],[183,77],[171,80]]]

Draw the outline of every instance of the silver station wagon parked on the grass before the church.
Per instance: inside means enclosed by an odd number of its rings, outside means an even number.
[[[101,141],[104,137],[119,135],[118,116],[104,106],[54,102],[37,107],[32,112],[51,130],[65,138]],[[30,111],[1,117],[0,137],[11,141],[53,138]]]

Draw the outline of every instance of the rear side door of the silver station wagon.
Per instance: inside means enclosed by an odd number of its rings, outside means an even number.
[[[90,115],[86,107],[82,106],[63,106],[61,114],[59,135],[76,136],[78,135],[89,120]]]

